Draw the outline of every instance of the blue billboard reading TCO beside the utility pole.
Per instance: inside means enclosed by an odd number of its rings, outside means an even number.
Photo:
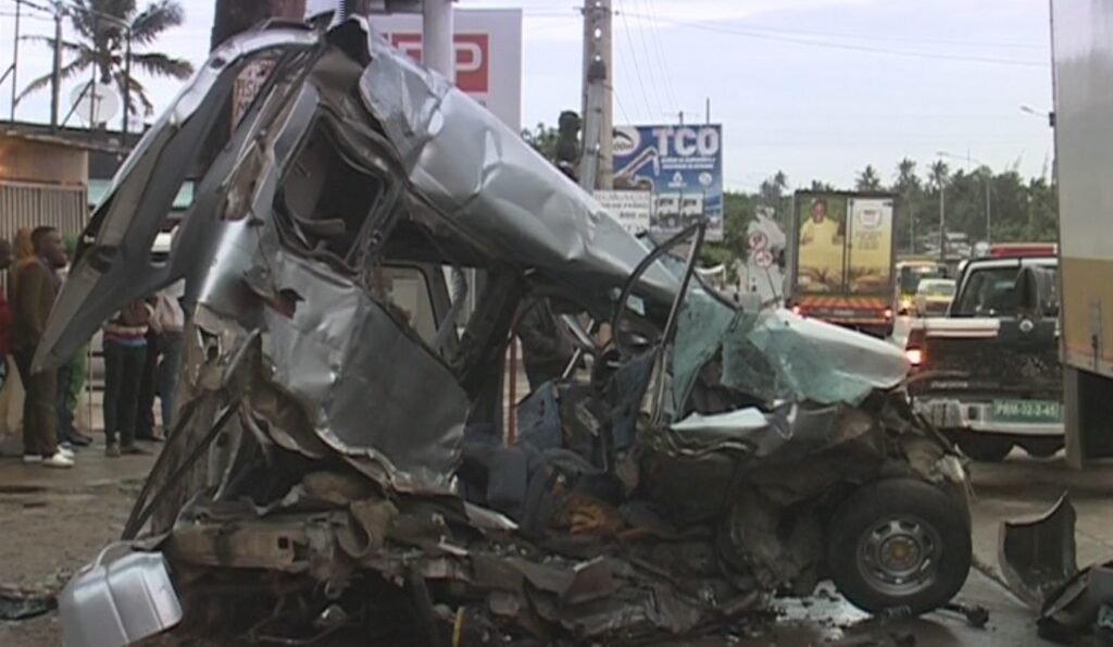
[[[653,195],[650,231],[679,232],[708,220],[708,239],[722,239],[722,127],[614,128],[614,187]]]

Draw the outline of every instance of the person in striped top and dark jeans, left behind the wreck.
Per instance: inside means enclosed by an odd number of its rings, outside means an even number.
[[[136,416],[151,311],[140,300],[105,324],[105,454],[111,458],[148,453],[136,444]]]

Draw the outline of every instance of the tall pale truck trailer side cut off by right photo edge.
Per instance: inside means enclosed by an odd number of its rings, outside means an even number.
[[[1113,455],[1113,3],[1053,0],[1067,461]]]

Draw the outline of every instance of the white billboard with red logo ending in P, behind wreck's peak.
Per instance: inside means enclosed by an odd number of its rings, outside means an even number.
[[[420,14],[372,14],[368,20],[394,47],[421,61]],[[453,24],[456,86],[518,133],[522,129],[521,9],[457,9]]]

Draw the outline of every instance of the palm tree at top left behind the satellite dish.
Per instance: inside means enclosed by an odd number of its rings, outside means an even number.
[[[127,109],[132,115],[138,112],[137,101],[142,105],[145,115],[154,111],[147,90],[134,76],[135,70],[175,79],[185,79],[194,71],[194,66],[185,59],[142,51],[156,45],[164,31],[183,23],[185,10],[178,0],[154,0],[142,11],[138,10],[135,0],[70,0],[63,9],[77,32],[77,40],[62,40],[62,51],[72,58],[61,67],[61,80],[80,78],[82,73],[95,71],[100,82],[116,85],[121,96],[127,95]],[[129,32],[130,81],[125,73],[128,69],[125,59]],[[36,40],[55,47],[53,38],[36,37]],[[47,87],[50,80],[51,75],[35,79],[23,89],[20,98]]]

